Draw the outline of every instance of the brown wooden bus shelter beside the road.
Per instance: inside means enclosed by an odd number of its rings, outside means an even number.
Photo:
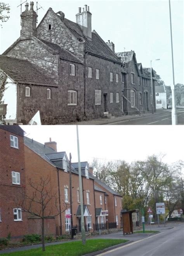
[[[133,221],[132,221],[132,213],[139,212],[139,210],[128,210],[122,211],[122,221],[123,221],[123,235],[129,234],[132,232],[133,234]]]

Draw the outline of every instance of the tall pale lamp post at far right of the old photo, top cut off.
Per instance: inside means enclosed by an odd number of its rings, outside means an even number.
[[[176,103],[175,103],[175,81],[174,81],[174,58],[173,58],[173,46],[172,46],[172,23],[171,23],[171,9],[170,9],[170,0],[169,0],[169,16],[170,16],[170,39],[171,39],[171,53],[172,53],[172,76],[173,84],[171,86],[172,90],[172,125],[177,124],[177,112],[176,112]]]

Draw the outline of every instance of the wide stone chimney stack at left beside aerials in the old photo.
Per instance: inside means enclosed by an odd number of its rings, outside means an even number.
[[[29,4],[25,4],[26,10],[21,14],[21,37],[33,37],[36,36],[36,19],[38,15],[33,10],[34,2],[30,2],[30,10]]]

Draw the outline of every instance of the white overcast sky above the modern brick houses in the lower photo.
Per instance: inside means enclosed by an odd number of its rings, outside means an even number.
[[[40,143],[57,142],[57,151],[66,151],[72,161],[78,161],[75,125],[21,126],[26,136]],[[170,164],[184,160],[182,126],[123,126],[81,125],[79,129],[80,160],[145,160],[152,154],[166,154],[163,161]]]

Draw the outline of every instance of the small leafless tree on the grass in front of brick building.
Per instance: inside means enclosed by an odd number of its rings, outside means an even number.
[[[50,177],[41,177],[38,182],[28,179],[28,185],[21,193],[21,200],[16,201],[17,207],[23,212],[42,219],[42,250],[45,251],[45,219],[56,217],[64,212],[67,207],[63,203],[63,209],[59,210],[59,198],[57,192],[53,192],[50,185]],[[20,197],[19,197],[20,198]]]

